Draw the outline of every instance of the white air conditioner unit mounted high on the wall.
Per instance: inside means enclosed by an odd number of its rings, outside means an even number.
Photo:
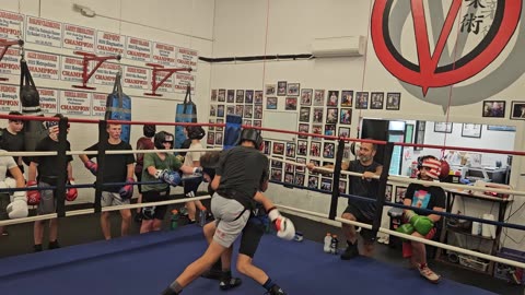
[[[365,47],[364,36],[316,38],[312,43],[312,55],[316,58],[360,57],[364,55]]]

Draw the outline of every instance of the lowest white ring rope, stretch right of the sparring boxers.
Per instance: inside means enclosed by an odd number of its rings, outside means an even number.
[[[287,211],[294,211],[294,212],[299,212],[299,213],[303,213],[303,214],[314,215],[314,216],[322,217],[322,219],[328,219],[328,216],[326,214],[320,214],[320,213],[317,213],[317,212],[306,211],[306,210],[302,210],[302,209],[294,209],[294,208],[291,208],[291,206],[278,205],[278,204],[277,204],[277,206],[278,208],[283,208]],[[354,226],[360,226],[362,228],[372,229],[371,224],[354,222],[354,221],[345,220],[345,219],[341,219],[341,217],[336,217],[336,221],[339,221],[339,222],[346,223],[346,224],[350,224],[350,225],[354,225]],[[458,253],[465,253],[465,255],[478,257],[478,258],[494,261],[494,262],[500,262],[500,263],[516,267],[516,268],[522,268],[522,269],[525,268],[525,263],[523,263],[523,262],[518,262],[518,261],[514,261],[514,260],[510,260],[510,259],[505,259],[505,258],[501,258],[501,257],[497,257],[497,256],[492,256],[492,255],[481,253],[481,252],[477,252],[477,251],[451,246],[451,245],[443,244],[443,243],[438,243],[438,241],[425,239],[425,238],[420,238],[420,237],[416,237],[416,236],[411,236],[411,235],[400,234],[396,231],[392,231],[392,229],[388,229],[388,228],[385,228],[385,227],[380,227],[378,232],[385,233],[385,234],[388,234],[388,235],[392,235],[392,236],[400,237],[400,238],[404,238],[404,239],[410,239],[410,240],[419,241],[419,243],[422,243],[422,244],[425,244],[425,245],[439,247],[439,248],[442,248],[442,249],[445,249],[445,250],[455,251],[455,252],[458,252]]]

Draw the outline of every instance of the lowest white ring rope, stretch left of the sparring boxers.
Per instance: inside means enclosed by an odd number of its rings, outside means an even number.
[[[151,202],[151,203],[136,203],[136,204],[125,204],[125,205],[112,205],[112,206],[103,206],[102,212],[110,212],[110,211],[118,211],[124,209],[137,209],[137,208],[144,208],[144,206],[152,206],[152,205],[167,205],[167,204],[177,204],[177,203],[185,203],[189,201],[199,201],[199,200],[207,200],[210,199],[211,196],[200,196],[194,198],[184,198],[184,199],[176,199],[176,200],[168,200],[168,201],[160,201],[160,202]],[[77,216],[77,215],[86,215],[95,213],[94,208],[90,209],[81,209],[81,210],[72,210],[66,211],[66,216]],[[0,221],[0,226],[3,225],[11,225],[11,224],[19,224],[19,223],[26,223],[26,222],[35,222],[35,221],[45,221],[58,217],[57,213],[51,214],[43,214],[36,215],[25,219],[16,219],[16,220],[7,220]]]

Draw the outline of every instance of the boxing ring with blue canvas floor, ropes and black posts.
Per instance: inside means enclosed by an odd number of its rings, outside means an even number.
[[[147,125],[155,123],[159,126],[215,126],[228,127],[226,125],[213,125],[213,123],[173,123],[173,122],[145,122],[145,121],[117,121],[117,120],[85,120],[85,119],[68,119],[68,118],[46,118],[46,117],[27,117],[27,116],[5,116],[0,115],[0,118],[14,117],[16,119],[32,119],[32,120],[58,120],[60,128],[59,139],[67,138],[66,126],[69,122],[78,123],[98,123],[100,137],[104,139],[103,133],[107,123],[122,123],[122,125]],[[243,126],[244,127],[244,126]],[[244,127],[254,128],[254,127]],[[255,128],[262,131],[280,131],[275,129]],[[361,226],[363,228],[370,228],[372,231],[385,233],[392,236],[402,237],[405,239],[417,240],[431,246],[442,247],[457,251],[458,253],[472,255],[483,259],[505,263],[516,268],[524,268],[525,264],[518,261],[513,261],[495,256],[475,252],[468,249],[459,247],[444,245],[433,240],[420,239],[413,236],[407,236],[388,228],[381,227],[381,215],[384,205],[395,208],[407,208],[402,204],[387,202],[385,200],[385,187],[388,181],[399,182],[418,182],[420,180],[409,179],[398,176],[388,175],[388,165],[392,155],[394,143],[347,139],[339,137],[328,137],[304,132],[291,132],[302,135],[325,138],[327,140],[334,140],[339,143],[336,156],[336,165],[334,173],[332,191],[323,191],[319,189],[308,189],[304,186],[295,186],[290,184],[283,184],[279,181],[272,181],[279,185],[285,185],[288,187],[294,187],[306,190],[314,190],[322,193],[331,194],[330,211],[327,214],[319,212],[312,212],[291,206],[279,205],[285,213],[301,213],[308,214],[319,221],[337,221],[347,224]],[[373,224],[362,224],[342,220],[336,216],[337,199],[343,198],[357,198],[357,196],[349,196],[339,193],[338,182],[341,175],[354,175],[362,176],[361,174],[341,172],[342,148],[345,142],[374,142],[377,144],[384,144],[386,146],[385,152],[385,168],[383,175],[377,177],[380,180],[380,192],[377,200],[372,200],[378,205],[378,217],[374,220]],[[415,146],[416,144],[396,143],[400,145]],[[423,145],[433,149],[451,149],[451,150],[465,150],[457,146],[431,146]],[[213,149],[211,149],[213,150]],[[215,149],[217,150],[217,149]],[[481,149],[470,149],[485,151]],[[171,150],[174,152],[183,150]],[[207,150],[210,151],[210,150]],[[137,153],[138,151],[109,151],[109,153]],[[140,153],[154,153],[155,151],[141,150]],[[510,153],[515,155],[524,155],[522,152],[509,152],[509,151],[491,151],[497,153]],[[78,154],[96,154],[106,151],[100,150],[97,152],[85,151],[71,151],[65,150],[47,153],[31,153],[31,152],[13,152],[13,153],[0,153],[0,156],[5,155],[78,155]],[[272,161],[281,161],[295,166],[303,166],[300,164],[282,158],[272,158]],[[63,165],[65,162],[61,163]],[[60,163],[59,163],[60,164]],[[103,169],[103,165],[100,165],[100,169]],[[323,168],[320,168],[323,169]],[[162,205],[183,203],[187,200],[202,200],[209,199],[210,196],[187,198],[179,200],[171,200],[163,202],[154,202],[147,204],[130,204],[120,206],[102,208],[100,193],[104,186],[117,186],[122,184],[102,184],[102,174],[97,176],[95,184],[79,184],[74,186],[66,185],[66,181],[58,181],[57,185],[57,213],[30,216],[26,219],[0,221],[1,225],[10,225],[23,222],[33,222],[37,220],[48,220],[52,217],[67,217],[82,214],[98,213],[104,211],[117,211],[120,209],[133,209],[144,205]],[[135,182],[144,184],[144,182]],[[440,184],[443,188],[450,189],[464,189],[464,185],[453,184]],[[95,188],[95,202],[93,209],[67,211],[65,206],[63,192],[69,187],[75,188]],[[482,188],[471,187],[472,190],[483,190]],[[2,191],[13,190],[28,190],[25,189],[2,189]],[[504,190],[504,189],[491,189],[497,193],[509,193],[523,197],[525,192]],[[62,192],[60,197],[59,192]],[[362,198],[361,198],[362,199]],[[424,210],[422,210],[424,211]],[[506,226],[516,229],[525,229],[525,226],[517,224],[501,224],[494,221],[486,221],[476,217],[455,215],[446,212],[432,212],[446,217],[460,217],[463,220],[471,220],[488,223],[491,225]],[[300,228],[298,228],[300,229]],[[238,248],[238,240],[235,244]],[[84,245],[71,246],[67,248],[60,248],[52,251],[43,251],[37,253],[28,253],[23,256],[9,257],[0,260],[0,292],[1,294],[24,295],[34,293],[45,294],[159,294],[178,273],[180,273],[187,264],[197,259],[207,248],[207,243],[202,235],[202,231],[197,226],[184,226],[176,231],[171,232],[156,232],[148,233],[136,236],[128,236],[121,238],[114,238],[112,240],[95,241]],[[440,284],[429,284],[427,281],[419,278],[417,271],[409,270],[402,266],[393,266],[384,262],[376,261],[371,258],[358,257],[352,259],[351,262],[341,262],[339,256],[324,255],[323,245],[310,240],[302,243],[283,241],[277,238],[275,235],[265,235],[261,239],[260,247],[257,250],[257,255],[254,258],[254,262],[261,269],[271,273],[276,282],[279,285],[285,287],[289,294],[347,294],[350,292],[360,292],[368,294],[492,294],[488,291],[478,288],[476,286],[465,285],[454,282],[447,278],[443,278]],[[235,252],[235,251],[234,251]],[[235,261],[235,255],[234,255]],[[232,263],[234,266],[234,262]],[[236,271],[234,270],[234,273]],[[31,283],[30,283],[31,282]],[[218,282],[206,279],[198,279],[184,290],[184,294],[218,294]],[[243,278],[242,286],[228,291],[229,294],[260,294],[262,290],[255,281],[249,278]]]

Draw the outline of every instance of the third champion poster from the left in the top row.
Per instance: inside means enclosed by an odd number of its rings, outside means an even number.
[[[72,24],[65,24],[62,47],[84,52],[94,52],[95,30]]]

